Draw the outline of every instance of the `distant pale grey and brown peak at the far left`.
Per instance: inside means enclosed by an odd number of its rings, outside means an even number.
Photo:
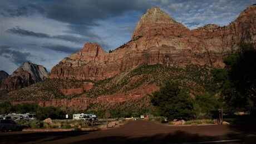
[[[45,67],[24,62],[21,67],[17,68],[12,75],[6,78],[0,90],[7,90],[8,92],[18,90],[43,81],[48,77],[49,74]]]

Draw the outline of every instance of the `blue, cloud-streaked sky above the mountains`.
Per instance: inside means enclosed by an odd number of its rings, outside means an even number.
[[[255,0],[0,0],[0,70],[29,61],[52,67],[87,42],[107,52],[130,41],[140,17],[159,7],[189,29],[227,26]]]

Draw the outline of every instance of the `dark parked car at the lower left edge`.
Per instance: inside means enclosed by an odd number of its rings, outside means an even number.
[[[13,120],[0,120],[0,130],[5,131],[19,131],[19,125]]]

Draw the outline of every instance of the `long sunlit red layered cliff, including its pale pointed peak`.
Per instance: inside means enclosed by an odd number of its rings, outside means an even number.
[[[192,31],[154,7],[141,17],[130,42],[111,53],[99,44],[86,43],[53,67],[50,78],[104,80],[143,63],[224,67],[223,58],[240,42],[256,43],[255,5],[228,26],[208,24]]]

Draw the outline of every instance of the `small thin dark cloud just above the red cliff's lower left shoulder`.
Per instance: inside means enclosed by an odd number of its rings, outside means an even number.
[[[75,53],[79,49],[79,48],[71,48],[67,46],[52,45],[52,44],[45,44],[42,47],[46,49],[51,49],[52,51],[65,52],[65,53]]]

